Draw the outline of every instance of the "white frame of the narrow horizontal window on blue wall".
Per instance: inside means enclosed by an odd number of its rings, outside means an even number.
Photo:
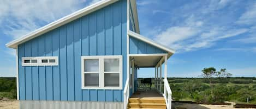
[[[29,60],[29,63],[25,63],[25,60]],[[32,63],[31,60],[37,60],[37,63]],[[43,63],[41,60],[48,61]],[[55,60],[55,62],[49,62],[49,60]],[[58,66],[58,56],[21,57],[21,61],[21,66]]]

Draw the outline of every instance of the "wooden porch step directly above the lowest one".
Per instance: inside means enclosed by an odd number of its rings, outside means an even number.
[[[152,104],[165,104],[164,98],[159,99],[141,99],[141,98],[130,98],[129,103],[152,103]]]

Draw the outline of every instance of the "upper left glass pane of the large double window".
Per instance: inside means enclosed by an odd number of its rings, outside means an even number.
[[[98,59],[86,59],[85,60],[85,72],[99,72],[99,60]]]

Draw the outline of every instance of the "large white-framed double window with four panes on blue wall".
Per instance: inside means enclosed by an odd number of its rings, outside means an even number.
[[[122,89],[122,56],[82,56],[82,89]]]

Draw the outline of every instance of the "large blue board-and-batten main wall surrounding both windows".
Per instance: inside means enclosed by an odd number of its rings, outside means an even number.
[[[127,69],[127,2],[118,1],[18,46],[20,100],[122,101],[123,91],[81,89],[81,56],[122,55]],[[58,66],[21,66],[21,57],[58,56]]]

